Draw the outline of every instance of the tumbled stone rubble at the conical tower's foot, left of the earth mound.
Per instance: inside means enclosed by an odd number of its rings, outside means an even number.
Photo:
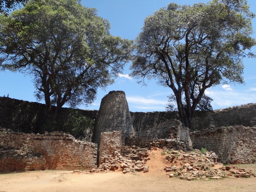
[[[100,166],[92,169],[90,172],[109,172],[110,170],[122,169],[123,173],[128,172],[148,172],[148,166],[145,163],[150,160],[150,150],[147,148],[139,148],[136,146],[124,146],[122,155],[115,151],[113,155],[105,155],[100,157]]]

